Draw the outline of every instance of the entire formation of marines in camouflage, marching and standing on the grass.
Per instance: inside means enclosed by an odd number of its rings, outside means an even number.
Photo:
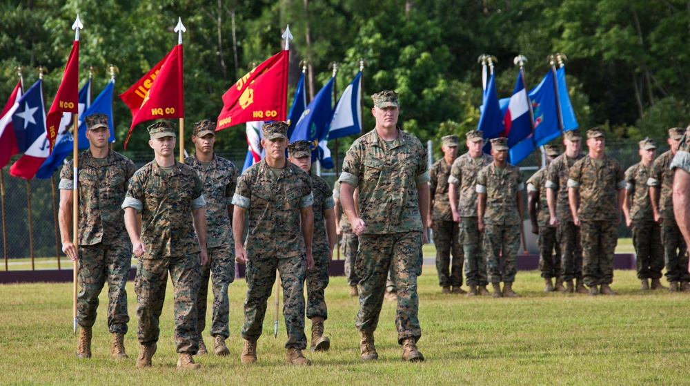
[[[426,148],[397,126],[397,93],[375,94],[373,102],[375,128],[355,140],[333,189],[311,173],[310,143],[290,144],[284,122],[264,124],[266,158],[240,175],[213,151],[214,122],[193,124],[195,153],[184,163],[174,157],[175,125],[152,124],[149,145],[155,159],[136,170],[108,148],[108,116],[86,117],[90,148],[79,155],[79,169],[72,162],[63,167],[60,182],[63,252],[79,262],[77,356],[91,356],[98,296],[107,282],[111,355],[128,358],[125,284],[132,254],[137,258],[137,367],[152,366],[168,276],[175,287],[177,368],[199,369],[193,356],[209,351],[201,336],[209,280],[213,353],[229,354],[228,287],[235,262],[246,263],[248,284],[242,363],[257,361],[277,272],[284,293],[286,362],[311,365],[302,353],[308,347],[305,317],[311,320],[309,348],[331,347],[324,333],[324,289],[337,235],[342,235],[350,296],[359,298],[355,326],[362,360],[378,359],[374,332],[384,297],[397,301],[402,359],[424,360],[417,348],[422,336],[417,276],[430,227],[442,293],[520,297],[513,283],[525,182],[520,168],[507,162],[507,139],[491,139],[488,155],[482,151],[483,133],[471,131],[468,152],[458,157],[460,139],[448,135],[442,138],[444,157],[428,168]],[[546,146],[549,164],[526,181],[544,291],[616,294],[610,285],[621,212],[633,230],[641,289],[666,289],[660,282],[665,266],[669,291],[690,291],[690,197],[682,188],[690,184],[690,139],[684,133],[669,130],[671,150],[657,160],[655,142],[641,141],[641,161],[626,172],[604,152],[601,128],[587,132],[587,155],[580,153],[578,131],[564,134],[563,154],[558,146]],[[70,241],[75,170],[78,245]],[[468,291],[462,289],[463,270]]]

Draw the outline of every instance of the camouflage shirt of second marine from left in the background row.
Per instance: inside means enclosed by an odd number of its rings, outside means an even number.
[[[491,162],[493,157],[484,153],[477,160],[470,153],[465,153],[453,162],[448,182],[457,188],[457,211],[461,217],[477,217],[477,175]]]

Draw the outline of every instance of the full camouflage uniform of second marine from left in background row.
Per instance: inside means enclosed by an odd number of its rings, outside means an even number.
[[[493,157],[482,153],[473,159],[465,153],[455,159],[451,168],[449,184],[457,186],[458,206],[460,212],[460,244],[464,249],[465,277],[469,286],[489,284],[486,278],[486,261],[482,252],[483,233],[477,229],[477,174],[493,162]]]

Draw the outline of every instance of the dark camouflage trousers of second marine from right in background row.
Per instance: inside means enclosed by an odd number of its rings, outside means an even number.
[[[660,279],[664,269],[661,226],[655,221],[635,220],[632,231],[638,279]]]

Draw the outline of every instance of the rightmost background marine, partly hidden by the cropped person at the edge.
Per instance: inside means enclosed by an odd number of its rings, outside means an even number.
[[[669,291],[681,289],[690,291],[690,274],[688,273],[687,244],[673,215],[673,176],[671,161],[678,151],[684,130],[680,127],[669,130],[671,150],[660,155],[652,168],[652,175],[647,180],[651,198],[654,220],[661,222],[661,240],[664,242],[664,260],[666,262],[666,280]]]

